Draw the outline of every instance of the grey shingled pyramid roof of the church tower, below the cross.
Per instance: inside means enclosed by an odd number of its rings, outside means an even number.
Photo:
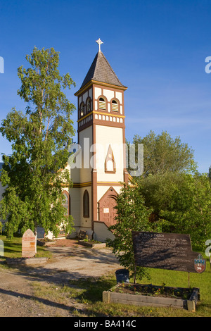
[[[113,71],[113,68],[111,68],[102,51],[98,51],[96,54],[80,89],[82,89],[84,85],[90,82],[90,80],[96,80],[96,82],[104,82],[107,84],[124,87],[124,85],[122,85],[117,75]]]

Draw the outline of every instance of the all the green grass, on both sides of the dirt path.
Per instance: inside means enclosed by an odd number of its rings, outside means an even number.
[[[4,242],[4,258],[21,257],[21,237],[12,240],[0,236]],[[205,255],[202,254],[205,258]],[[38,257],[49,256],[44,246],[37,246]],[[139,283],[161,286],[165,283],[170,287],[188,287],[188,273],[149,269],[151,279],[143,279]],[[131,280],[133,282],[133,280]],[[211,270],[207,258],[207,268],[204,273],[190,273],[190,286],[200,288],[200,301],[198,301],[196,312],[176,308],[158,308],[151,306],[129,306],[124,304],[104,304],[102,293],[116,285],[114,273],[112,275],[96,279],[70,280],[68,286],[44,285],[41,282],[33,282],[34,294],[41,299],[50,299],[60,304],[67,304],[70,299],[76,299],[86,307],[83,310],[72,308],[74,316],[122,316],[122,317],[211,317]],[[57,289],[55,291],[55,289]]]

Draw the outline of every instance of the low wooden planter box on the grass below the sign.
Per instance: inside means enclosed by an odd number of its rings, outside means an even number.
[[[193,292],[189,299],[174,299],[171,297],[142,295],[142,294],[127,294],[115,292],[117,287],[122,284],[117,284],[112,289],[103,292],[103,302],[105,303],[116,303],[116,304],[132,304],[136,306],[156,306],[166,307],[171,306],[174,308],[188,309],[188,311],[196,311],[197,301],[200,299],[199,289],[193,288]],[[129,284],[136,286],[137,284]],[[171,287],[168,287],[171,289]],[[174,289],[172,287],[172,289]],[[182,288],[179,288],[182,289]]]

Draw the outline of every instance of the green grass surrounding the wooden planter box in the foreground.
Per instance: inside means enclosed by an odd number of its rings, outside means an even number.
[[[142,280],[141,284],[162,285],[170,287],[188,287],[188,273],[150,269],[151,280]],[[132,280],[131,280],[132,281]],[[196,312],[177,308],[158,308],[149,306],[129,306],[124,304],[102,303],[102,292],[116,285],[115,277],[101,277],[96,280],[70,281],[70,289],[77,286],[82,291],[77,299],[87,304],[86,316],[146,316],[146,317],[211,317],[211,271],[210,263],[204,273],[190,274],[190,286],[200,288],[200,301]],[[78,314],[79,315],[79,314]]]

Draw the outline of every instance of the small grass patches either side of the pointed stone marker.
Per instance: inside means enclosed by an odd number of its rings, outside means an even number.
[[[0,240],[4,242],[4,258],[22,257],[22,237],[13,237],[8,240],[6,236],[0,235]],[[51,257],[51,254],[44,249],[44,246],[37,246],[36,257]]]

